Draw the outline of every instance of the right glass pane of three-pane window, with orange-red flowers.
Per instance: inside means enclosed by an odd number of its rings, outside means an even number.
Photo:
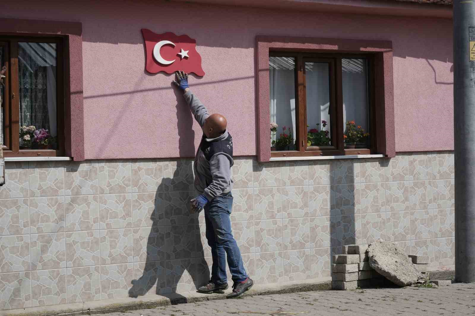
[[[366,59],[342,59],[345,148],[368,148],[368,68]]]

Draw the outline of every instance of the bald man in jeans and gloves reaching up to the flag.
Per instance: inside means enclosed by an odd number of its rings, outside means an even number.
[[[196,152],[193,169],[195,188],[200,193],[192,199],[191,211],[204,208],[206,239],[211,247],[213,265],[208,284],[198,288],[201,293],[221,292],[228,288],[226,256],[234,281],[233,291],[227,298],[240,297],[252,287],[253,281],[244,269],[241,252],[231,232],[231,167],[233,166],[233,139],[228,133],[227,121],[221,114],[208,114],[205,106],[190,91],[188,74],[178,71],[173,81],[182,91],[191,113],[195,116],[203,137]]]

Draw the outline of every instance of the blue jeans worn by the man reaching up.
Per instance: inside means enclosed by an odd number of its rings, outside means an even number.
[[[246,279],[247,274],[241,258],[241,252],[231,232],[231,207],[233,196],[231,192],[218,196],[204,207],[206,221],[206,238],[211,247],[213,266],[211,281],[215,284],[227,282],[226,257],[233,281]]]

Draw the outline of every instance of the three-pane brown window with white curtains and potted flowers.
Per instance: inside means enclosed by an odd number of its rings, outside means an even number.
[[[270,51],[271,156],[374,153],[371,54]]]

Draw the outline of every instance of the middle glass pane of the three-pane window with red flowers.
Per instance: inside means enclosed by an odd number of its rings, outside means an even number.
[[[330,74],[328,63],[305,63],[307,147],[329,146]]]

